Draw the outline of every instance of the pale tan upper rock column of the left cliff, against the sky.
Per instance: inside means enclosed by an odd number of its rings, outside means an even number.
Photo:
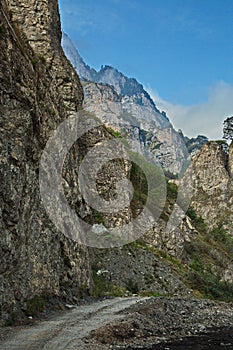
[[[58,1],[6,0],[13,22],[23,30],[35,53],[49,69],[51,86],[56,82],[63,102],[77,111],[83,91],[79,78],[71,68],[61,47],[61,24]]]

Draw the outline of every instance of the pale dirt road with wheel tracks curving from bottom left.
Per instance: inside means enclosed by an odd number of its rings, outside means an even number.
[[[85,337],[94,329],[106,323],[124,318],[117,312],[147,298],[114,298],[93,304],[78,306],[50,320],[35,326],[23,327],[5,341],[0,342],[1,350],[99,350],[101,345],[85,342]]]

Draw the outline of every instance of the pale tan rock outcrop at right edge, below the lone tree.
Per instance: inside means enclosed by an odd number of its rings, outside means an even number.
[[[193,190],[192,206],[208,223],[209,229],[223,226],[231,234],[233,183],[229,159],[221,144],[208,142],[193,158],[192,172],[188,171]]]

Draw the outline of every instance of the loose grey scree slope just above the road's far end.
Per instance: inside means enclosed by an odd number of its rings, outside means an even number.
[[[169,261],[162,254],[156,256],[146,246],[144,249],[135,244],[101,251],[94,249],[90,256],[97,275],[105,271],[102,275],[106,280],[131,294],[188,296],[192,293]]]

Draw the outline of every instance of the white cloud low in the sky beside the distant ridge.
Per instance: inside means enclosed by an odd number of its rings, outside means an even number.
[[[233,115],[233,86],[223,81],[209,89],[206,102],[192,106],[174,105],[150,88],[148,91],[158,109],[164,110],[175,128],[189,137],[202,134],[209,139],[221,139],[222,123]]]

